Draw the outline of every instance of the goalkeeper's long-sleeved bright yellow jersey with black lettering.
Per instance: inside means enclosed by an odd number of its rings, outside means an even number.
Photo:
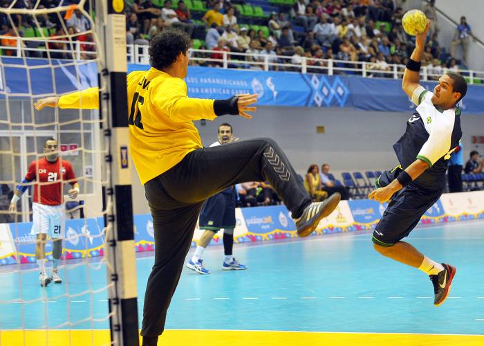
[[[193,120],[214,120],[214,100],[189,98],[187,84],[153,67],[127,76],[129,147],[142,184],[203,147]],[[98,109],[98,89],[59,98],[60,108]]]

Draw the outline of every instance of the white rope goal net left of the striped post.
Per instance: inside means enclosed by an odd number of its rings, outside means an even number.
[[[111,3],[100,2],[100,8]],[[122,275],[115,262],[113,160],[107,159],[113,155],[109,107],[101,113],[34,107],[40,98],[96,87],[98,80],[108,78],[105,33],[100,35],[93,19],[101,14],[95,13],[93,1],[52,3],[54,7],[45,8],[40,0],[12,0],[0,8],[0,345],[126,345],[113,335],[126,326],[116,322]],[[112,3],[119,6],[119,1]],[[101,93],[109,88],[109,82],[101,82]],[[43,181],[41,161],[46,160],[49,138],[57,141],[54,154],[61,168],[59,176],[47,172]],[[67,179],[66,161],[80,185],[75,199],[68,197],[74,181]],[[35,179],[22,183],[32,167]],[[53,282],[50,234],[58,221],[49,210],[38,211],[41,221],[33,212],[36,204],[53,198],[43,188],[56,181],[64,183],[60,284]],[[10,201],[19,184],[26,191],[12,212]],[[36,235],[39,230],[48,235],[44,245]],[[36,257],[43,246],[46,275],[52,280],[47,286],[41,286]]]

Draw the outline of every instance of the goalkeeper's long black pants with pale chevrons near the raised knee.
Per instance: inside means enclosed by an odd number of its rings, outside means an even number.
[[[145,184],[153,216],[155,263],[149,275],[142,336],[158,336],[185,264],[203,202],[237,183],[269,181],[293,217],[311,203],[274,140],[261,138],[196,149]]]

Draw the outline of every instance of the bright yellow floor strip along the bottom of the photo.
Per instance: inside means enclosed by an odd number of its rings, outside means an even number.
[[[101,346],[109,345],[108,330],[0,331],[1,346]],[[141,345],[141,343],[140,343]],[[482,346],[484,336],[432,334],[350,334],[301,331],[167,330],[162,346]]]

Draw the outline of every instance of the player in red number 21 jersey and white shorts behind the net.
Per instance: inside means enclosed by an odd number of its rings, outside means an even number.
[[[32,203],[33,228],[37,235],[35,241],[35,257],[40,269],[40,285],[47,286],[51,281],[56,284],[62,282],[59,277],[59,262],[62,255],[62,239],[64,238],[64,183],[68,182],[72,188],[69,197],[74,199],[80,191],[75,181],[75,174],[70,162],[59,158],[59,146],[55,138],[49,138],[44,143],[45,157],[32,161],[28,172],[10,202],[10,212],[15,212],[17,201],[27,190],[30,181],[35,181],[34,198]],[[47,234],[53,239],[53,271],[49,277],[46,274],[46,238]]]

